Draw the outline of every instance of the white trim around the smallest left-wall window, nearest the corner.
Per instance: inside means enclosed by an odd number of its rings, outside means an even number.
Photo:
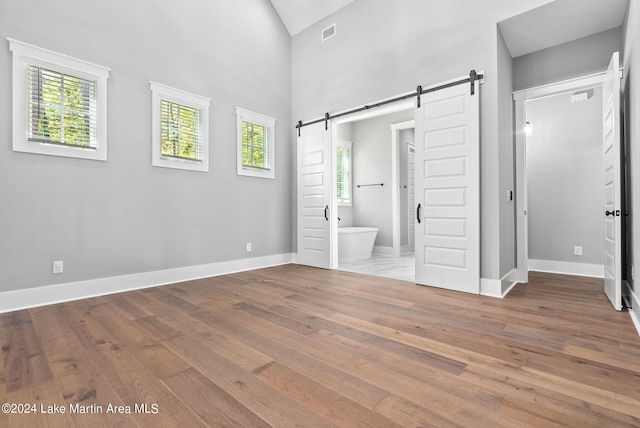
[[[242,163],[242,122],[250,122],[254,125],[264,126],[269,128],[269,141],[267,142],[267,159],[269,159],[269,168],[253,168],[245,166]],[[255,113],[242,107],[236,107],[236,148],[237,148],[237,160],[236,171],[238,175],[244,175],[247,177],[260,177],[260,178],[275,178],[276,172],[276,119],[273,117],[265,116],[260,113]]]

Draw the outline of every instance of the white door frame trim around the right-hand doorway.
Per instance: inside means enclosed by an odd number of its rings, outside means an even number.
[[[602,87],[605,73],[595,73],[575,79],[513,92],[515,104],[515,174],[516,174],[516,282],[529,282],[529,221],[527,216],[527,136],[524,126],[527,117],[527,101],[567,92]]]

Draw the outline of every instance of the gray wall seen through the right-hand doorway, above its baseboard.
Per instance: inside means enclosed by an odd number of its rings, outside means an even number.
[[[570,99],[527,102],[529,258],[602,264],[602,89],[588,101]],[[575,245],[582,256],[573,254]]]

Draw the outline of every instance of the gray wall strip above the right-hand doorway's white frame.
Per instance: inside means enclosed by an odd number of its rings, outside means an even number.
[[[622,28],[519,56],[513,59],[514,90],[599,73],[616,51],[622,52]]]

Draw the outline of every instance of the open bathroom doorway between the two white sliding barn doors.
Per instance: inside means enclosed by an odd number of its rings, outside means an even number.
[[[406,104],[406,105],[405,105]],[[347,201],[338,199],[338,269],[415,282],[410,249],[409,147],[414,142],[413,103],[391,111],[354,115],[335,123],[336,183],[348,182]],[[344,147],[350,148],[350,177],[343,177]],[[373,235],[372,235],[373,233]],[[353,245],[373,245],[360,252]]]

